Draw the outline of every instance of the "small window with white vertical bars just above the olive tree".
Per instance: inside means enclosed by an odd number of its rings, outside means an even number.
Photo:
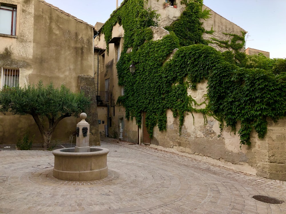
[[[17,68],[2,68],[1,89],[17,87],[19,85],[19,73]]]

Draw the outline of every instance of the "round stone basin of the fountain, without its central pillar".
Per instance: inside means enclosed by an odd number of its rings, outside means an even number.
[[[75,148],[53,151],[53,176],[65,181],[94,181],[108,176],[106,148],[90,148],[90,152],[74,152]]]

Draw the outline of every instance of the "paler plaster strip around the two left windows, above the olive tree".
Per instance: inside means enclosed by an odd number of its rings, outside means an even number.
[[[27,76],[33,71],[34,1],[1,1],[2,3],[17,5],[17,22],[15,37],[6,37],[0,34],[0,69],[1,67],[20,68],[19,84],[21,86],[27,84]],[[7,50],[9,54],[7,54]]]

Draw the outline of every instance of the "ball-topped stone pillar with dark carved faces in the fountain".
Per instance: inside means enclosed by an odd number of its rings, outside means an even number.
[[[89,146],[89,133],[90,125],[86,122],[86,113],[80,114],[80,119],[82,119],[76,127],[76,146],[75,152],[90,152]]]

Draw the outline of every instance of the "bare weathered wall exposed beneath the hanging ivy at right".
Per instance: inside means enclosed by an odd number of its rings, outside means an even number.
[[[189,90],[198,103],[204,100],[206,94],[204,81],[197,86],[198,90]],[[202,106],[203,107],[203,106]],[[206,122],[202,114],[194,113],[184,118],[181,134],[179,134],[178,118],[173,118],[172,112],[167,111],[167,130],[159,132],[154,129],[151,146],[163,150],[181,153],[200,160],[225,165],[227,167],[247,171],[259,176],[286,180],[286,119],[274,124],[268,122],[268,132],[265,138],[258,139],[253,131],[251,146],[240,147],[238,134],[224,128],[220,134],[219,122],[215,118],[207,117]],[[239,130],[240,124],[237,124]]]

